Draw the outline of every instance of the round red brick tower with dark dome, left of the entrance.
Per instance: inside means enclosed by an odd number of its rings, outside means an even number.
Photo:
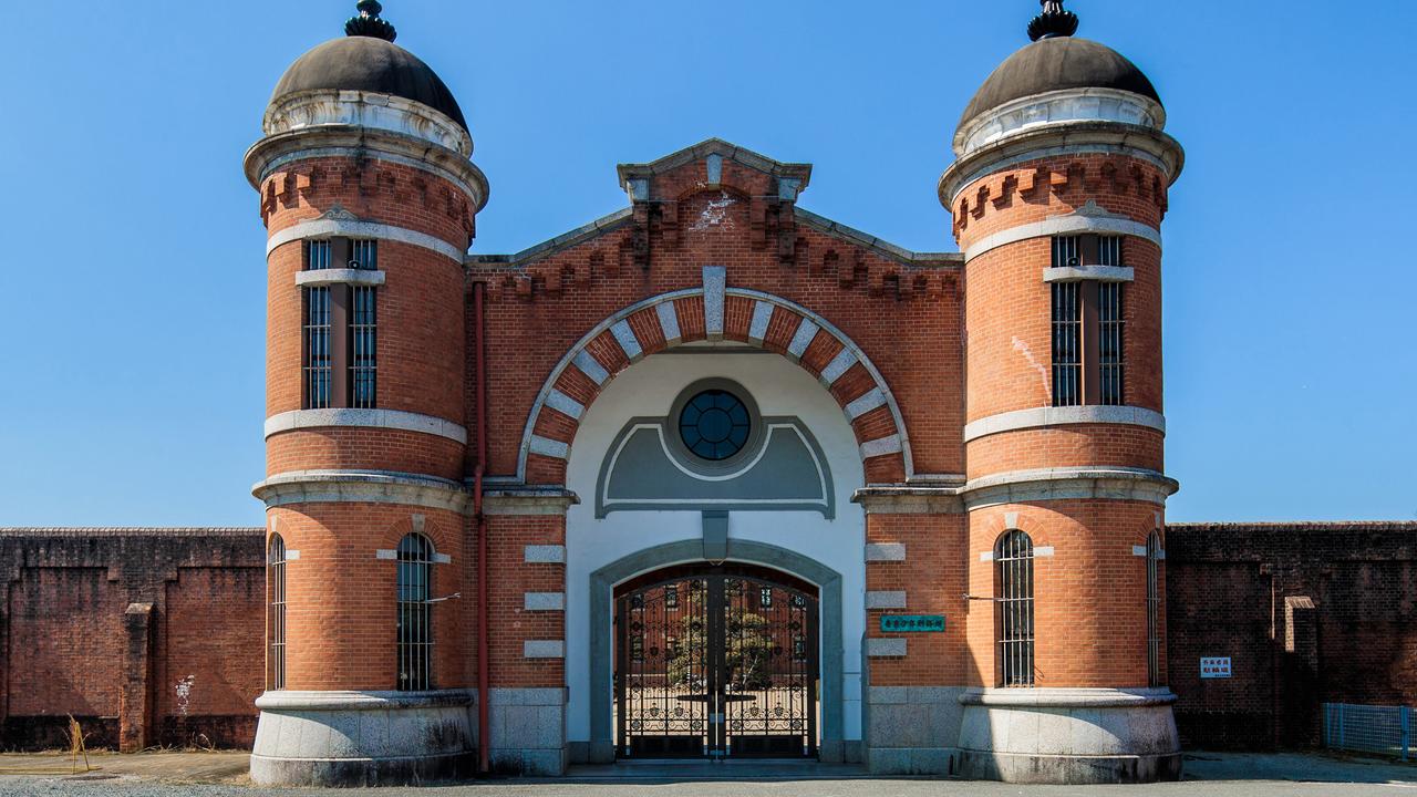
[[[452,92],[380,13],[360,1],[295,61],[245,157],[269,235],[261,786],[476,759],[463,258],[487,183]]]

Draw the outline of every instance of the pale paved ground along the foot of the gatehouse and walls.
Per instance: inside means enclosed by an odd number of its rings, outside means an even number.
[[[0,796],[251,797],[244,753],[94,754],[98,767],[71,774],[61,756],[0,756]],[[424,788],[350,790],[371,797],[1417,797],[1417,766],[1299,754],[1193,753],[1186,780],[1156,786],[1020,787],[958,780],[863,779],[852,767],[758,764],[727,780],[714,764],[577,767],[557,781],[502,780]],[[289,797],[320,790],[279,790]]]

